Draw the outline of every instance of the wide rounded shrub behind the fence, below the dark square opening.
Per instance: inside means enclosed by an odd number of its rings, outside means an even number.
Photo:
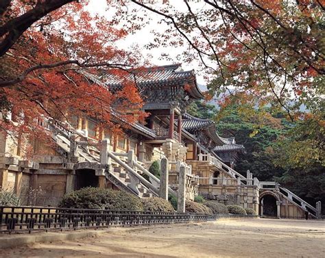
[[[76,209],[128,209],[142,211],[140,198],[124,191],[82,188],[65,194],[59,207]]]

